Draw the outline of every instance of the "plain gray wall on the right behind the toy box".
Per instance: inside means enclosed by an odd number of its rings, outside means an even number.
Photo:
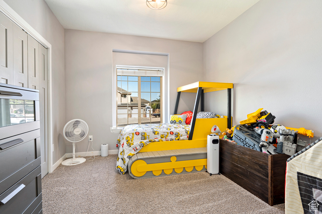
[[[264,108],[321,137],[321,11],[320,0],[261,0],[203,43],[204,80],[234,83],[234,125]],[[226,112],[226,92],[208,98]]]

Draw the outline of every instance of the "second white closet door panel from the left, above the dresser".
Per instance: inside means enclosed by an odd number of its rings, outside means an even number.
[[[28,34],[14,24],[14,85],[28,88]]]

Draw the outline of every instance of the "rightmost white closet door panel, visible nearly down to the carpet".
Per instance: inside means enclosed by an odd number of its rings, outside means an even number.
[[[47,49],[39,44],[41,177],[48,173]]]

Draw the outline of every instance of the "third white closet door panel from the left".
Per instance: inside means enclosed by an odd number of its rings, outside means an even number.
[[[28,34],[28,88],[39,90],[39,42]]]

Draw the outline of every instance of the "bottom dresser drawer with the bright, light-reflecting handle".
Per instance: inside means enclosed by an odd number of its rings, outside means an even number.
[[[41,200],[41,166],[38,166],[0,195],[0,213],[31,214]]]

